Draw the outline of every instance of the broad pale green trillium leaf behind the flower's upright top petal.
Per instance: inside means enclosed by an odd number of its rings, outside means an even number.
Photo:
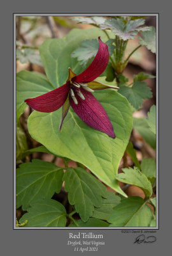
[[[114,37],[112,33],[109,35]],[[72,29],[64,38],[46,40],[39,52],[50,83],[56,88],[66,83],[69,67],[76,75],[80,74],[85,68],[76,58],[71,58],[71,52],[80,47],[83,40],[97,39],[98,36],[103,42],[108,40],[108,36],[97,28]]]

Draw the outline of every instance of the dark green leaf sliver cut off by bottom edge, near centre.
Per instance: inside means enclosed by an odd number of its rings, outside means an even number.
[[[75,223],[71,223],[69,227],[108,227],[110,225],[109,223],[96,218],[89,218],[89,220],[86,222],[77,220],[76,223],[77,225]]]

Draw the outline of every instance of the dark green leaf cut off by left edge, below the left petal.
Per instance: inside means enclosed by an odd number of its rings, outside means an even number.
[[[17,125],[16,127],[16,161],[22,160],[25,157],[25,150],[27,150],[27,140],[25,133]]]

